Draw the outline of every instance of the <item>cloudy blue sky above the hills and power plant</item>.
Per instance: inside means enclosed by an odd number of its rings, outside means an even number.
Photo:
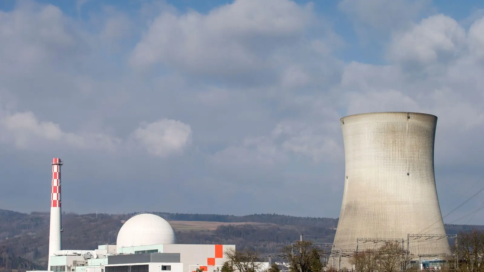
[[[0,207],[338,217],[339,118],[439,117],[442,213],[482,188],[484,4],[0,2]],[[477,196],[445,218],[475,211]],[[457,198],[457,199],[456,199]],[[484,213],[454,223],[484,224]]]

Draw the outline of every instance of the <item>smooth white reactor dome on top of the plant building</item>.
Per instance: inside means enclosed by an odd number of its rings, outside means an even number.
[[[172,243],[175,243],[175,232],[170,223],[151,213],[131,217],[122,225],[116,240],[118,248]]]

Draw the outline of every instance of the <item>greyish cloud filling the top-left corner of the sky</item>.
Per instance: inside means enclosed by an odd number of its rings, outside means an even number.
[[[30,1],[10,13],[0,11],[0,40],[0,69],[65,63],[86,51],[85,40],[58,7]]]

